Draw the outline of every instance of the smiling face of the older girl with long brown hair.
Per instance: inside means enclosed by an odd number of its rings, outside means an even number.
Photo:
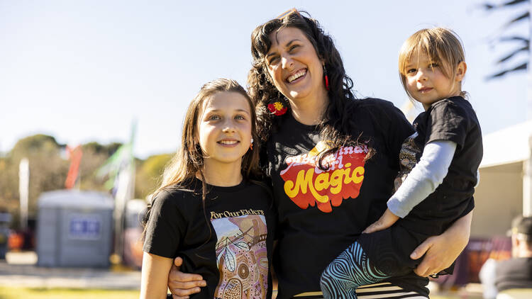
[[[199,145],[205,166],[238,164],[251,142],[251,111],[248,99],[233,91],[206,98],[199,114]]]

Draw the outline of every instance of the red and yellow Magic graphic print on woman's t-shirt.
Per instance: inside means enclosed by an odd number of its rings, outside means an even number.
[[[306,209],[317,205],[325,213],[342,204],[347,198],[356,198],[364,181],[365,145],[340,147],[335,154],[323,159],[328,170],[321,170],[318,154],[326,150],[326,142],[320,141],[310,152],[287,157],[287,168],[281,171],[284,193],[299,206]]]

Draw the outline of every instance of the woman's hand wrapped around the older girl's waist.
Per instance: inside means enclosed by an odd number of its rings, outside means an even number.
[[[199,287],[206,286],[206,281],[198,274],[183,273],[179,267],[183,264],[183,259],[176,257],[170,274],[168,275],[168,288],[172,292],[174,299],[186,299],[189,295],[199,293]]]

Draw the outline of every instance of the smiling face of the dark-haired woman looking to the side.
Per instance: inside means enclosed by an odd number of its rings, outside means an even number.
[[[297,102],[325,91],[323,63],[301,30],[276,30],[270,41],[272,46],[265,57],[268,73],[284,96]]]

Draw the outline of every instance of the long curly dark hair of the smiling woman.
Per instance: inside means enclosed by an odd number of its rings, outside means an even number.
[[[308,15],[308,13],[306,13]],[[269,35],[282,28],[298,28],[314,45],[318,57],[324,62],[327,69],[329,90],[329,103],[323,115],[320,128],[321,136],[328,140],[329,150],[321,153],[319,166],[323,167],[322,160],[327,154],[336,152],[339,147],[359,144],[362,132],[353,136],[353,123],[350,118],[351,111],[355,108],[357,98],[353,94],[353,80],[345,74],[342,57],[334,45],[330,35],[323,32],[318,21],[302,16],[301,13],[289,13],[284,18],[275,18],[258,26],[251,34],[251,55],[253,66],[248,74],[248,92],[255,103],[257,111],[258,135],[261,142],[266,142],[272,132],[279,130],[279,123],[288,115],[274,116],[267,108],[271,101],[282,101],[289,107],[283,94],[272,82],[267,70],[265,55],[272,45]],[[367,142],[369,140],[364,140]],[[369,159],[374,150],[370,147],[366,159]]]

